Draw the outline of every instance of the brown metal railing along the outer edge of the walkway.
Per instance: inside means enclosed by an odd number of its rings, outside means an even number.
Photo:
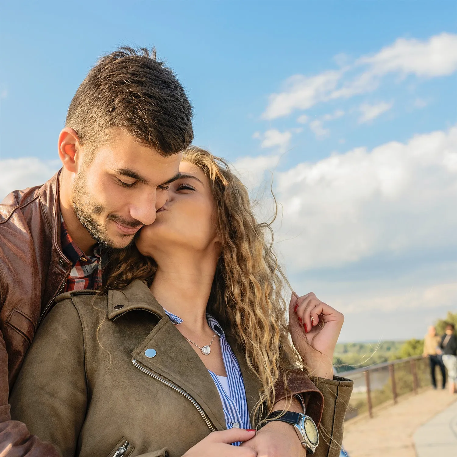
[[[436,370],[437,383],[440,380]],[[373,408],[388,401],[397,403],[400,395],[430,386],[429,360],[422,356],[393,360],[338,373],[338,376],[354,380],[346,420],[358,414],[368,412],[373,417]],[[439,385],[439,384],[438,384]]]

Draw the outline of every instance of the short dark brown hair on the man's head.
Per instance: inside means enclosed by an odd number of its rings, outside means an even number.
[[[81,144],[94,145],[107,128],[120,127],[165,157],[193,138],[186,91],[155,49],[146,48],[123,47],[102,57],[78,87],[65,125]]]

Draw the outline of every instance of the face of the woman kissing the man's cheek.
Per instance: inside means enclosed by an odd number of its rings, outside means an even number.
[[[138,250],[159,262],[171,250],[214,252],[217,243],[214,202],[206,175],[189,162],[181,162],[183,177],[170,184],[165,205],[151,225],[142,228]]]

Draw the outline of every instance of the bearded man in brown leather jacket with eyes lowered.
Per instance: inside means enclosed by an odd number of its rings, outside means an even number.
[[[0,205],[1,448],[58,455],[10,420],[13,385],[57,295],[97,288],[100,248],[123,248],[166,200],[192,108],[173,72],[142,49],[121,48],[90,70],[58,138],[63,168]]]

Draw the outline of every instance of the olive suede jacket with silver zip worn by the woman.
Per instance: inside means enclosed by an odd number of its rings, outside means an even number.
[[[260,383],[224,330],[252,413]],[[156,356],[146,357],[148,348]],[[303,380],[298,384],[307,414],[325,429],[315,455],[339,455],[352,382],[320,380],[320,390],[309,379],[306,388]],[[292,380],[292,392],[293,386]],[[107,296],[60,296],[37,331],[10,401],[12,419],[63,456],[112,457],[128,443],[123,457],[177,457],[226,428],[206,367],[140,281]]]

